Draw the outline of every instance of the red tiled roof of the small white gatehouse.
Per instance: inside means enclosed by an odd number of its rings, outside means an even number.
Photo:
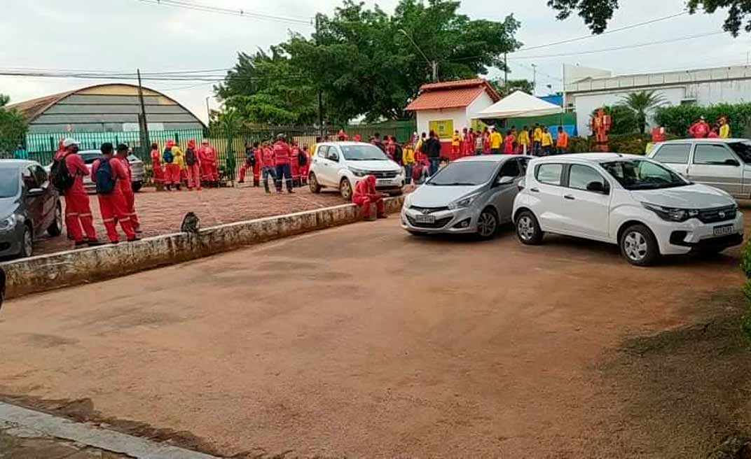
[[[500,96],[490,83],[477,78],[475,80],[447,81],[444,83],[427,83],[420,88],[420,95],[405,110],[439,110],[467,107],[479,95],[487,92],[493,102]]]

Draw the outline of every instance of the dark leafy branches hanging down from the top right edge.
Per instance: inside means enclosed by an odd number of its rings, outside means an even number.
[[[584,23],[595,34],[602,34],[608,28],[608,21],[618,9],[619,0],[548,0],[547,5],[558,11],[558,19],[565,20],[572,13],[578,13]],[[689,13],[704,10],[704,13],[714,13],[718,8],[727,8],[728,17],[722,28],[737,37],[740,28],[751,32],[751,1],[749,0],[687,0]],[[744,23],[745,22],[745,23]]]

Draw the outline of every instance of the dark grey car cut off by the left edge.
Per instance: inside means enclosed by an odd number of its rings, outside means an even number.
[[[0,257],[31,257],[44,232],[62,233],[62,205],[35,161],[0,160]]]

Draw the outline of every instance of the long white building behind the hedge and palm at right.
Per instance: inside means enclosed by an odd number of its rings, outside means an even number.
[[[746,65],[616,77],[603,76],[603,71],[585,77],[572,69],[565,69],[566,107],[576,112],[582,136],[590,133],[593,110],[618,104],[631,92],[656,90],[670,105],[751,102],[751,66]]]

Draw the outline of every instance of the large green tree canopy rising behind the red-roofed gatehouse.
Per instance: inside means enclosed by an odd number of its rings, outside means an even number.
[[[216,95],[251,122],[315,121],[319,91],[333,124],[404,118],[408,101],[432,79],[430,62],[440,80],[475,78],[503,69],[503,53],[520,46],[512,15],[471,20],[459,5],[401,0],[390,15],[345,0],[333,16],[318,15],[311,37],[291,34],[268,53],[241,53]]]

